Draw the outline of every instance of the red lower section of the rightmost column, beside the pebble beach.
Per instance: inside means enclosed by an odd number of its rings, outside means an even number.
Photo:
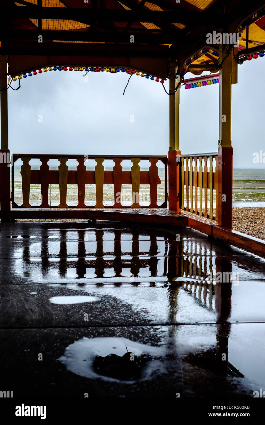
[[[232,229],[233,147],[231,146],[219,146],[217,179],[218,193],[216,201],[218,226]]]

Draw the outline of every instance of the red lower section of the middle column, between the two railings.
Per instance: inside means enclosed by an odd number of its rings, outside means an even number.
[[[180,150],[168,151],[168,210],[180,213]]]

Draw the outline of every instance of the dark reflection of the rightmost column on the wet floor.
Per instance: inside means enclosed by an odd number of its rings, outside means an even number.
[[[231,260],[216,258],[216,276],[217,279],[220,280],[215,286],[215,308],[217,311],[217,367],[221,374],[227,374],[228,369],[228,338],[231,324],[225,322],[231,314],[231,273]]]

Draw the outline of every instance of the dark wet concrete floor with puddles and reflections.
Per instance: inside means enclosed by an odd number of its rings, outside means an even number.
[[[20,221],[0,230],[0,263],[14,397],[265,389],[262,258],[187,227]]]

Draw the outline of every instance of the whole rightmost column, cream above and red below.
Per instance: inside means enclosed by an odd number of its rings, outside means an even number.
[[[222,67],[220,68],[219,76],[217,221],[218,226],[232,229],[233,147],[231,143],[231,85],[237,83],[237,63],[233,57],[233,49],[225,51],[224,46],[221,46],[219,60],[222,63]]]

